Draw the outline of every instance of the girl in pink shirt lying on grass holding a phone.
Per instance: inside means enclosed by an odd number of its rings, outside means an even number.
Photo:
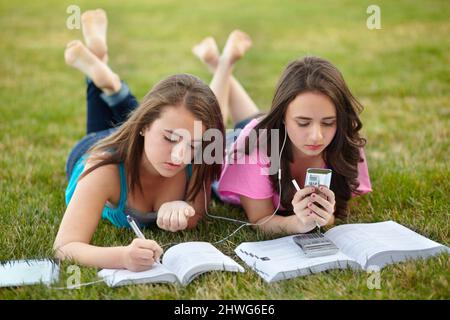
[[[335,217],[348,214],[352,196],[372,191],[363,150],[366,141],[359,135],[363,107],[333,64],[305,57],[286,67],[271,109],[261,117],[232,75],[235,62],[250,46],[248,35],[233,31],[221,56],[211,37],[193,49],[214,72],[210,86],[225,123],[230,114],[236,128],[243,128],[228,148],[218,188],[216,185],[218,196],[240,204],[249,221],[266,232],[304,233],[316,225],[333,224]],[[264,129],[276,129],[279,134],[264,135]],[[258,143],[266,138],[265,147],[252,143],[251,134]],[[275,172],[269,170],[274,165],[267,151],[273,152],[272,145],[278,155],[283,151],[275,163],[280,170]],[[291,181],[295,179],[303,187],[307,168],[332,169],[330,188],[296,191]],[[277,208],[286,214],[273,215]]]

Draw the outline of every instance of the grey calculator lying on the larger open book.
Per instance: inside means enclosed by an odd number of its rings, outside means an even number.
[[[293,239],[308,258],[328,256],[339,251],[339,248],[322,233],[299,234]]]

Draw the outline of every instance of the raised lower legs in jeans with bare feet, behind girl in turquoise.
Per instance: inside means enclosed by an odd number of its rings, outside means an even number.
[[[124,122],[138,102],[127,85],[108,66],[107,17],[102,9],[81,16],[84,42],[74,40],[64,52],[66,63],[81,71],[87,83],[87,133],[114,128]]]

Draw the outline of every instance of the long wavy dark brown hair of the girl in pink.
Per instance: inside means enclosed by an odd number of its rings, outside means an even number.
[[[358,162],[363,161],[359,148],[366,144],[359,130],[362,123],[358,114],[363,106],[347,87],[342,74],[327,60],[317,57],[305,57],[291,62],[284,70],[275,90],[269,113],[259,122],[254,130],[259,136],[259,129],[279,129],[278,145],[281,149],[286,134],[284,117],[289,104],[301,93],[319,92],[331,99],[336,108],[336,134],[326,147],[323,158],[333,170],[330,189],[336,196],[335,216],[343,218],[348,214],[348,201],[352,192],[357,194],[359,186]],[[271,150],[271,137],[267,135],[267,150]],[[291,183],[292,175],[289,163],[294,161],[293,145],[287,138],[281,165],[281,204],[292,210],[291,200],[295,189]],[[279,150],[280,151],[280,150]],[[279,152],[278,151],[278,152]],[[245,153],[250,154],[252,146],[246,144]],[[272,188],[278,190],[278,173],[270,176]]]

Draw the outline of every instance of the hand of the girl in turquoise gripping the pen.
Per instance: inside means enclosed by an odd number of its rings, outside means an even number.
[[[134,239],[125,247],[123,254],[123,265],[126,269],[134,272],[144,271],[159,261],[163,250],[153,240]]]

